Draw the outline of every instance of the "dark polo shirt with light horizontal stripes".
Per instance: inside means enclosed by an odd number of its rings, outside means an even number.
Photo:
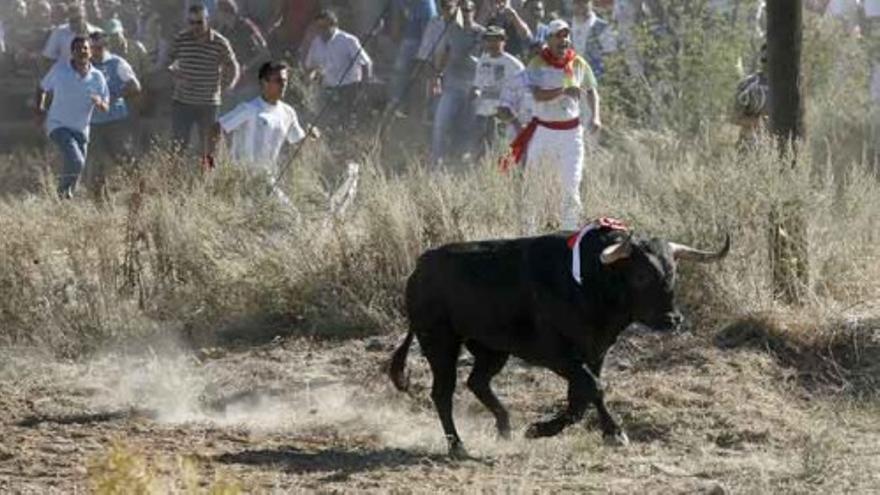
[[[178,70],[174,101],[190,105],[219,105],[223,81],[232,79],[236,66],[229,40],[213,29],[202,40],[191,30],[179,33],[171,62]]]

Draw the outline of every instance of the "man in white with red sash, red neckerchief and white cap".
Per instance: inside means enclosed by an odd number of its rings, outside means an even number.
[[[545,185],[538,184],[544,178],[552,178],[558,185],[554,192],[561,200],[560,227],[577,229],[582,208],[584,127],[596,132],[602,126],[596,77],[590,64],[571,48],[570,35],[568,23],[552,21],[547,46],[526,69],[535,99],[534,118],[511,143],[508,163],[526,164],[528,234],[537,230],[533,191]]]

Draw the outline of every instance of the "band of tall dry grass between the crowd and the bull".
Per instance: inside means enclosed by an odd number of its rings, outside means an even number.
[[[200,177],[161,153],[117,182],[101,205],[7,199],[0,204],[4,340],[72,354],[159,328],[210,334],[265,314],[329,336],[390,330],[401,322],[403,284],[425,248],[520,232],[519,179],[491,160],[440,172],[417,163],[392,172],[368,160],[353,210],[331,219],[323,152],[298,160],[284,184],[298,213],[240,170]],[[738,155],[723,136],[633,132],[590,155],[583,194],[587,215],[617,216],[652,235],[710,248],[731,234],[724,262],[681,266],[681,302],[705,329],[775,307],[768,218],[792,198],[808,205],[808,302],[831,315],[876,300],[880,194],[860,170],[841,184],[805,167],[780,168],[770,151]],[[555,208],[541,215],[552,225]]]

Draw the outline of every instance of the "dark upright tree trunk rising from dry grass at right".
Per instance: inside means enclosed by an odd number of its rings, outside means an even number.
[[[798,143],[804,134],[802,24],[802,0],[767,2],[770,130],[777,139],[782,166],[797,166]],[[770,228],[774,292],[788,303],[800,302],[809,284],[804,205],[794,200],[776,206],[770,214]]]

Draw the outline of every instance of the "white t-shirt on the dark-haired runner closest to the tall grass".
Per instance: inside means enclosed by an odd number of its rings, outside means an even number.
[[[294,144],[306,136],[293,107],[283,101],[272,105],[261,96],[240,103],[219,122],[225,132],[233,133],[233,159],[269,173],[277,167],[284,142]]]

